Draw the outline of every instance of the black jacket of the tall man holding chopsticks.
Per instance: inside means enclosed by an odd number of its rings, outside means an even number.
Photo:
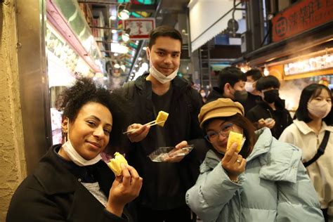
[[[148,73],[136,79],[133,95],[128,96],[133,105],[133,123],[145,124],[156,118],[153,112],[152,84],[151,81],[145,80],[147,76]],[[207,152],[197,118],[202,106],[200,94],[192,89],[189,82],[183,78],[176,77],[171,84],[173,93],[169,117],[164,124],[166,146],[175,146],[181,141],[188,141],[189,144],[195,143],[195,148],[179,163],[152,162],[148,155],[157,149],[156,129],[159,127],[152,126],[146,138],[139,143],[131,143],[130,150],[126,153],[129,164],[134,166],[138,174],[143,177],[143,188],[137,200],[142,206],[152,209],[157,209],[155,207],[158,204],[163,205],[158,209],[171,209],[171,207],[186,205],[185,192],[195,184],[200,173],[200,164]],[[200,139],[194,140],[196,138]],[[127,138],[125,139],[129,142]],[[167,164],[175,164],[178,171],[164,171],[163,167]],[[173,174],[181,179],[181,190],[178,192],[178,197],[172,200],[169,197],[163,199],[158,197],[159,186],[169,185],[171,189],[173,188],[173,181],[169,181],[167,184],[157,184],[157,176],[163,176],[163,174]]]

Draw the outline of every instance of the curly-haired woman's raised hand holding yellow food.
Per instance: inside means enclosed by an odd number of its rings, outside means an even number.
[[[110,189],[106,204],[107,211],[122,216],[125,205],[138,197],[142,181],[143,178],[138,175],[133,166],[122,164],[122,175],[115,178]]]

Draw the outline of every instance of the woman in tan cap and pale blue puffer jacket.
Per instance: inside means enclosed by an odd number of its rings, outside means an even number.
[[[186,202],[203,221],[324,221],[299,148],[254,131],[228,98],[204,105],[199,121],[211,149]],[[230,131],[245,138],[238,153],[226,149]]]

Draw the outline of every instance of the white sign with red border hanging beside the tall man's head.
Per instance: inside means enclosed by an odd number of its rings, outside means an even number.
[[[131,30],[129,39],[149,39],[150,31],[155,29],[155,18],[129,18],[123,25],[124,30]]]

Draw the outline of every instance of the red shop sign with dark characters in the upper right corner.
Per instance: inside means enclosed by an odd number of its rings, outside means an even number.
[[[332,0],[303,0],[275,15],[273,41],[281,41],[333,20]]]

